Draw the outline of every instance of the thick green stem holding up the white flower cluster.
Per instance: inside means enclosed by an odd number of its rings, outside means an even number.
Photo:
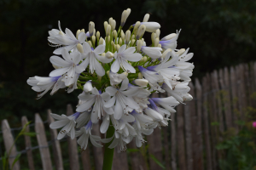
[[[108,127],[106,139],[113,137],[113,133],[114,133],[114,127],[111,123],[110,126]],[[104,150],[104,161],[103,161],[103,167],[102,167],[103,170],[111,170],[112,169],[114,148],[113,149],[108,148],[108,146],[111,143],[112,143],[112,140],[108,144],[105,144],[105,146],[104,146],[105,150]]]

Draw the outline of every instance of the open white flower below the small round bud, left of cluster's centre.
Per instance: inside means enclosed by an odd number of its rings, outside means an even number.
[[[84,104],[79,105],[76,111],[83,112],[90,109],[92,105],[93,109],[91,111],[90,120],[93,123],[98,122],[98,120],[102,116],[102,110],[106,111],[109,115],[113,114],[112,108],[106,108],[104,106],[105,101],[110,99],[110,96],[108,93],[103,93],[101,91],[98,91],[96,88],[93,88],[91,90],[91,94],[79,94],[79,99],[85,101]]]

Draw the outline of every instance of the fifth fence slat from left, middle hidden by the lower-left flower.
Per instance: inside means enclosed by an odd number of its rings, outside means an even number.
[[[72,105],[67,105],[67,116],[73,115]],[[71,139],[67,137],[68,144],[68,156],[69,156],[69,165],[71,170],[79,169],[79,154],[78,154],[78,144],[77,138]]]

